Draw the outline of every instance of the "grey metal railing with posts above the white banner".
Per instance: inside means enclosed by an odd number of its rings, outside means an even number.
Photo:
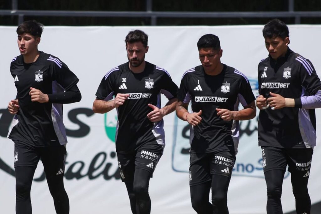
[[[0,15],[18,16],[18,24],[25,15],[29,16],[70,16],[70,17],[149,17],[151,25],[157,25],[157,18],[295,18],[321,17],[320,11],[294,11],[294,0],[289,1],[288,11],[283,12],[156,12],[152,11],[152,0],[146,0],[146,11],[55,11],[55,10],[18,10],[18,0],[12,0],[12,10],[0,10]]]

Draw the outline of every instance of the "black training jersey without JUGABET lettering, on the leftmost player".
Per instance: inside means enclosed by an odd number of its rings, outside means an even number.
[[[15,115],[8,138],[36,147],[59,146],[67,143],[63,124],[63,105],[32,102],[30,87],[44,94],[62,93],[79,81],[59,58],[40,51],[30,64],[23,56],[14,58],[10,66],[17,88],[20,109]]]

